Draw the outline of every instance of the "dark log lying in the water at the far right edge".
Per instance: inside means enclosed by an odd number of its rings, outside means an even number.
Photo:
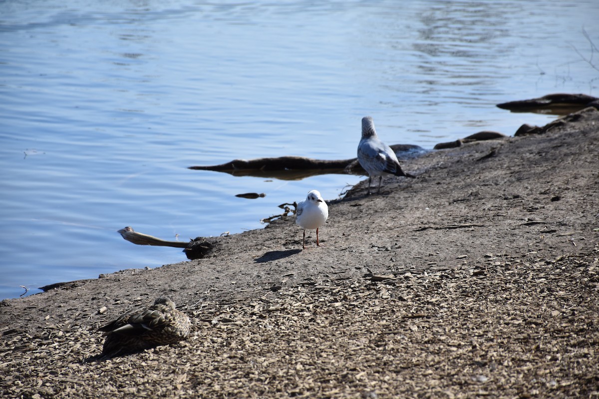
[[[588,106],[599,108],[599,99],[584,94],[555,93],[534,99],[504,102],[497,106],[512,112],[567,115]]]

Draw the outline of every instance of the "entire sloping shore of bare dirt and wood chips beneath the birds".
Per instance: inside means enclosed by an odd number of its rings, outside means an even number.
[[[404,170],[329,203],[320,247],[288,217],[2,301],[0,394],[599,398],[599,111]],[[93,361],[100,325],[161,294],[186,341]]]

